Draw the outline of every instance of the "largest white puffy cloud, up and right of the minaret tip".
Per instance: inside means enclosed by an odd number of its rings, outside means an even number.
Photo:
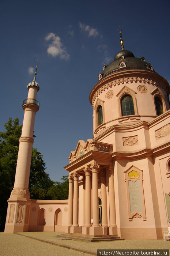
[[[63,46],[61,42],[61,38],[54,33],[49,33],[45,37],[46,41],[51,41],[51,44],[48,45],[47,52],[53,57],[60,56],[60,59],[69,60],[70,56],[67,53],[66,48]]]

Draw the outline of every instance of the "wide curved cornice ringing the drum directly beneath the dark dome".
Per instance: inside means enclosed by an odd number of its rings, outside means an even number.
[[[168,93],[170,93],[168,82],[158,73],[144,69],[128,68],[127,70],[124,69],[123,71],[110,72],[110,74],[108,74],[106,77],[99,80],[99,82],[91,90],[89,96],[91,105],[93,106],[95,98],[102,91],[105,91],[108,88],[112,88],[113,86],[117,86],[120,83],[128,84],[133,82],[151,83],[164,89],[165,91],[165,88],[167,87]]]

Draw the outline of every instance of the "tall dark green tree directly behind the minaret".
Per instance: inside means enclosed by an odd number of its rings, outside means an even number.
[[[0,132],[0,229],[4,229],[7,213],[7,200],[14,187],[16,163],[18,158],[19,138],[22,125],[19,119],[9,118],[5,123],[5,132]],[[34,136],[35,137],[35,136]],[[45,163],[41,153],[33,148],[30,167],[29,189],[32,199],[49,199],[48,189],[54,184],[45,172]]]

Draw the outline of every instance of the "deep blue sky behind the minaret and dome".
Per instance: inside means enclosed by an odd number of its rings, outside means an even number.
[[[60,181],[78,140],[92,138],[89,94],[103,64],[121,50],[118,26],[125,49],[170,82],[169,10],[169,0],[1,0],[0,131],[9,117],[23,123],[38,57],[33,147]]]

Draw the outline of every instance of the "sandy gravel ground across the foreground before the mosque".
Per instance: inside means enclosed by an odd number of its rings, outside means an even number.
[[[20,234],[20,235],[19,235]],[[169,249],[170,241],[120,240],[82,242],[57,238],[59,232],[0,233],[0,256],[96,255],[97,249]],[[42,242],[29,237],[33,237]],[[50,242],[52,244],[50,244]],[[66,246],[67,248],[64,248]],[[72,248],[72,249],[68,249]],[[76,251],[78,250],[78,251]],[[86,251],[87,253],[81,252]]]

